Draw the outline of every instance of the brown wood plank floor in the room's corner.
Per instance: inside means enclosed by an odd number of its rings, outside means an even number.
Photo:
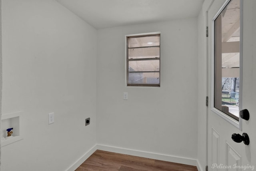
[[[96,150],[76,171],[197,171],[196,166]]]

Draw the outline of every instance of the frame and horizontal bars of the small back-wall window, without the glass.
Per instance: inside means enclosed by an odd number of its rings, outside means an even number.
[[[138,59],[129,59],[129,48],[128,47],[128,38],[138,38],[138,37],[147,37],[147,36],[159,36],[159,46],[143,46],[143,47],[135,47],[135,48],[153,48],[157,47],[159,48],[159,58],[138,58]],[[125,85],[126,87],[160,87],[160,66],[161,66],[161,58],[160,58],[160,47],[161,47],[161,41],[160,38],[161,34],[160,32],[151,32],[151,33],[142,33],[142,34],[131,34],[131,35],[125,35]],[[129,61],[148,61],[148,60],[159,60],[159,71],[148,71],[145,73],[159,73],[159,84],[128,84],[128,74],[129,73],[136,73],[136,72],[129,72]],[[141,72],[138,72],[141,73]]]

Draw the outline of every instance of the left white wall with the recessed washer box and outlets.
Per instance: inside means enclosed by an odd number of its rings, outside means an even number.
[[[2,113],[24,111],[24,139],[1,170],[63,171],[96,144],[97,32],[54,0],[4,0],[2,35]]]

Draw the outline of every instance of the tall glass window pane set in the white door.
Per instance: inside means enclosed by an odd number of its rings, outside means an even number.
[[[240,0],[230,0],[214,20],[214,107],[237,121],[241,96],[240,18]]]

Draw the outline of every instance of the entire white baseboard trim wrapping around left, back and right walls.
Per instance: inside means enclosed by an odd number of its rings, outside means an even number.
[[[147,152],[147,151],[138,151],[138,150],[133,150],[133,149],[125,149],[125,148],[120,148],[120,147],[112,147],[112,146],[100,145],[100,144],[94,145],[94,147],[92,147],[89,151],[87,151],[82,157],[80,157],[80,159],[78,159],[66,171],[76,170],[97,149],[109,151],[109,152],[113,152],[113,153],[121,153],[121,154],[127,154],[127,155],[134,155],[134,156],[138,156],[138,157],[145,157],[145,158],[149,158],[149,159],[169,161],[169,162],[181,163],[181,164],[185,164],[185,165],[193,165],[198,168],[198,171],[203,171],[200,163],[196,159],[190,159],[190,158],[186,158],[186,157],[178,157],[178,156],[172,156],[172,155],[164,155],[164,154],[158,154],[158,153],[151,153],[151,152]]]

